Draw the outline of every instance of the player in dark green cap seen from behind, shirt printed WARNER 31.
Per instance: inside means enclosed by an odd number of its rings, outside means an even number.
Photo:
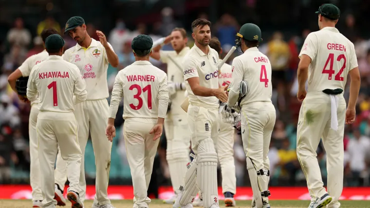
[[[132,40],[135,62],[116,76],[106,130],[112,141],[114,119],[123,97],[123,128],[135,196],[133,208],[148,208],[147,191],[169,100],[166,73],[149,62],[152,45],[148,35],[138,35]]]

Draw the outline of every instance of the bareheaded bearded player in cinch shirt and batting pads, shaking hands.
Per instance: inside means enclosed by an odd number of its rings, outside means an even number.
[[[189,94],[187,121],[191,146],[195,153],[188,164],[184,183],[180,186],[173,208],[191,208],[198,190],[202,192],[204,208],[218,208],[217,154],[219,99],[227,101],[224,87],[219,86],[219,54],[209,47],[211,22],[196,19],[191,24],[194,46],[183,60],[185,86]]]

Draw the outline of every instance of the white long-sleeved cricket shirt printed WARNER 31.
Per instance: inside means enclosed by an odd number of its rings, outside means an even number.
[[[166,118],[167,75],[148,61],[135,61],[118,72],[112,90],[110,117],[116,117],[123,97],[123,119],[145,118],[156,123]]]

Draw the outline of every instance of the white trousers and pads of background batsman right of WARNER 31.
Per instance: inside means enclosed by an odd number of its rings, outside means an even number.
[[[186,112],[182,115],[167,113],[165,132],[167,140],[166,160],[173,191],[179,193],[186,173],[186,164],[190,162],[190,135]]]

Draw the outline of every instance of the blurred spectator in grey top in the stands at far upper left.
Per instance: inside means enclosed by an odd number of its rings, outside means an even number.
[[[24,28],[23,19],[18,17],[14,21],[14,27],[9,30],[7,40],[10,45],[18,45],[21,50],[27,50],[31,43],[31,34]]]

